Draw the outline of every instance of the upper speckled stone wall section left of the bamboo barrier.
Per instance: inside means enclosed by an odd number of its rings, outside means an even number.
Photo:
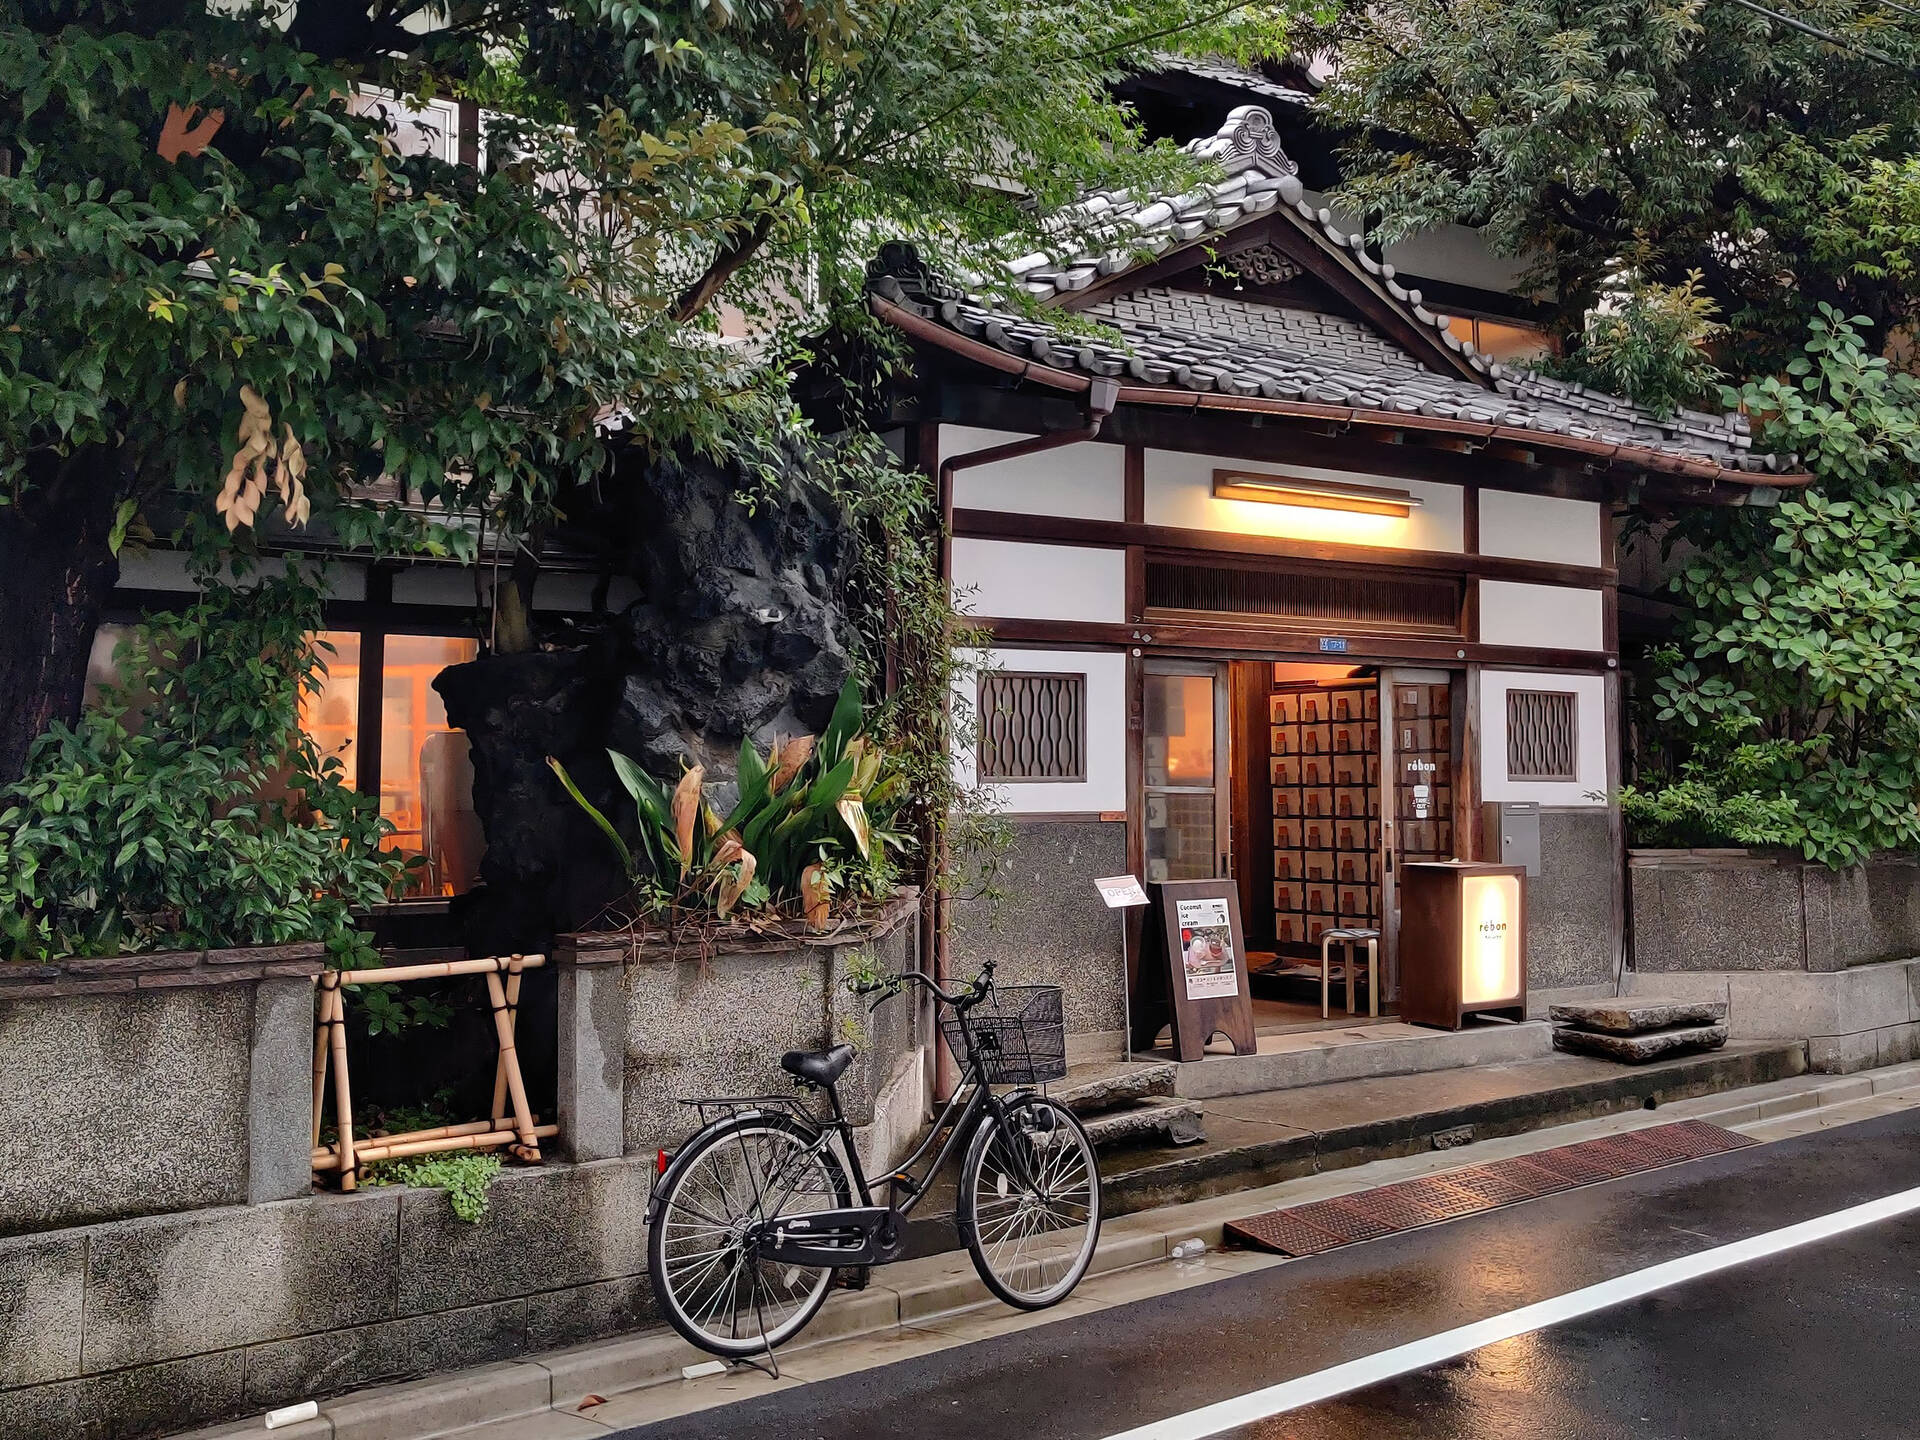
[[[0,1235],[305,1194],[324,952],[0,966]]]

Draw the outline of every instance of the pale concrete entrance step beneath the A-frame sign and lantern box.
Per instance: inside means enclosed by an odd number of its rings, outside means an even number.
[[[1480,1023],[1459,1031],[1421,1029],[1392,1020],[1356,1021],[1344,1029],[1261,1035],[1258,1054],[1210,1054],[1177,1066],[1173,1092],[1185,1100],[1213,1100],[1225,1094],[1542,1060],[1549,1054],[1551,1027],[1540,1020],[1519,1025]]]

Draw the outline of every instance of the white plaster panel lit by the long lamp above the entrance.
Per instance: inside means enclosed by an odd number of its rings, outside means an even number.
[[[1296,474],[1308,480],[1336,480],[1352,486],[1379,484],[1388,490],[1405,490],[1423,503],[1402,520],[1394,515],[1348,515],[1346,511],[1269,505],[1258,499],[1215,499],[1213,470]],[[1146,522],[1181,530],[1459,553],[1465,545],[1463,493],[1459,486],[1440,486],[1427,480],[1321,470],[1309,465],[1263,465],[1225,455],[1190,455],[1179,449],[1146,451]]]

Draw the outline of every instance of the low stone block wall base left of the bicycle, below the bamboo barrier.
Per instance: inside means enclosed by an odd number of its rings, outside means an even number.
[[[305,1135],[301,1135],[305,1140]],[[653,1323],[649,1158],[0,1240],[0,1440],[132,1440]]]

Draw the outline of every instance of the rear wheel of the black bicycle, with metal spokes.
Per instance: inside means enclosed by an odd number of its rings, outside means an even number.
[[[851,1204],[847,1171],[787,1116],[724,1121],[660,1179],[647,1269],[668,1323],[714,1356],[783,1344],[826,1304],[831,1267],[780,1265],[753,1250],[760,1221]]]

